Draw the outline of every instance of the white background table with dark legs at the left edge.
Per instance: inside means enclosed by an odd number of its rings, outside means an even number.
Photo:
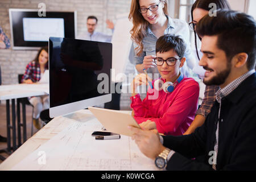
[[[6,100],[6,123],[7,123],[7,150],[2,150],[10,154],[11,149],[16,150],[21,145],[20,127],[23,127],[23,142],[27,140],[26,135],[26,106],[22,105],[23,123],[20,123],[20,104],[19,99],[24,97],[42,96],[49,94],[48,84],[16,84],[16,85],[1,85],[0,86],[0,100]],[[10,125],[10,100],[12,110],[12,125]],[[16,111],[15,111],[15,100]],[[16,117],[18,126],[18,146],[16,144]],[[13,146],[11,147],[11,130],[13,131]],[[2,156],[0,156],[0,159]]]

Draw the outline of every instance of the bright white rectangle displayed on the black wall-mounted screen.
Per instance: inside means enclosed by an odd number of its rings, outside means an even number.
[[[24,41],[47,42],[50,36],[64,38],[63,18],[23,18]]]

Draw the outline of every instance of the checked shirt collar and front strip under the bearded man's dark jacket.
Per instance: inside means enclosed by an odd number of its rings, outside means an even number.
[[[219,89],[216,92],[216,100],[218,103],[220,103],[220,109],[218,110],[218,120],[220,119],[220,111],[221,111],[221,100],[222,98],[228,96],[228,94],[230,94],[234,89],[237,88],[237,86],[239,86],[241,84],[241,82],[243,80],[245,80],[247,77],[249,77],[250,75],[252,75],[255,72],[255,70],[251,70],[245,74],[243,74],[242,76],[238,77],[236,80],[232,81],[230,84],[228,84],[227,86],[225,86],[222,89]],[[223,122],[223,119],[221,119],[221,122]],[[216,141],[214,144],[214,155],[213,155],[213,161],[215,164],[213,164],[212,168],[216,170],[216,161],[217,161],[217,154],[218,154],[218,125],[219,121],[217,123],[217,129],[216,129]]]

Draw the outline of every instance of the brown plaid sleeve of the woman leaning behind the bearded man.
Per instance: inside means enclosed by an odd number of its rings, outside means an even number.
[[[205,118],[210,113],[210,109],[212,109],[213,103],[215,101],[215,93],[219,87],[217,85],[205,86],[204,91],[204,99],[199,109],[196,111],[197,114],[203,115]]]

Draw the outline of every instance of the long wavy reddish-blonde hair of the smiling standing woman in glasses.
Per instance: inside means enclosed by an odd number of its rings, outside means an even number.
[[[164,3],[163,12],[165,15],[168,15],[168,3],[167,0],[159,0]],[[141,55],[143,51],[142,39],[146,36],[147,27],[149,23],[145,20],[142,14],[139,12],[139,0],[131,1],[131,9],[129,14],[129,20],[133,20],[133,28],[131,29],[131,39],[138,44],[138,47],[135,48],[136,54]]]

